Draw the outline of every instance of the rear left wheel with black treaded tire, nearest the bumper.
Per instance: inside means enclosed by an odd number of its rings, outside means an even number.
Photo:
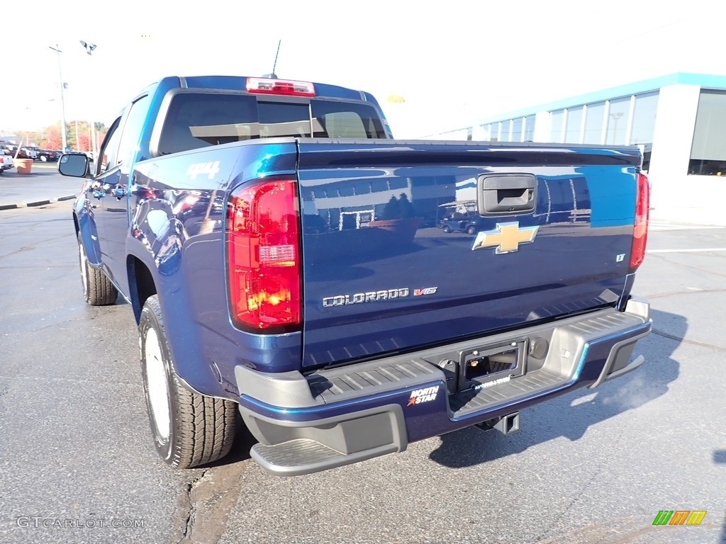
[[[218,461],[229,453],[240,426],[237,404],[187,390],[176,376],[158,295],[139,321],[144,396],[154,445],[177,469]]]

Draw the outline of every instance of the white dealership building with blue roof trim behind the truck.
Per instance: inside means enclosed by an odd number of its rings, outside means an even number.
[[[652,218],[726,225],[726,76],[674,73],[425,139],[640,146]]]

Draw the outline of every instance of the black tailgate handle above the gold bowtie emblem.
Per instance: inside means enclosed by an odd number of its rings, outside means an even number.
[[[537,179],[531,174],[479,176],[479,215],[502,215],[534,211]]]

